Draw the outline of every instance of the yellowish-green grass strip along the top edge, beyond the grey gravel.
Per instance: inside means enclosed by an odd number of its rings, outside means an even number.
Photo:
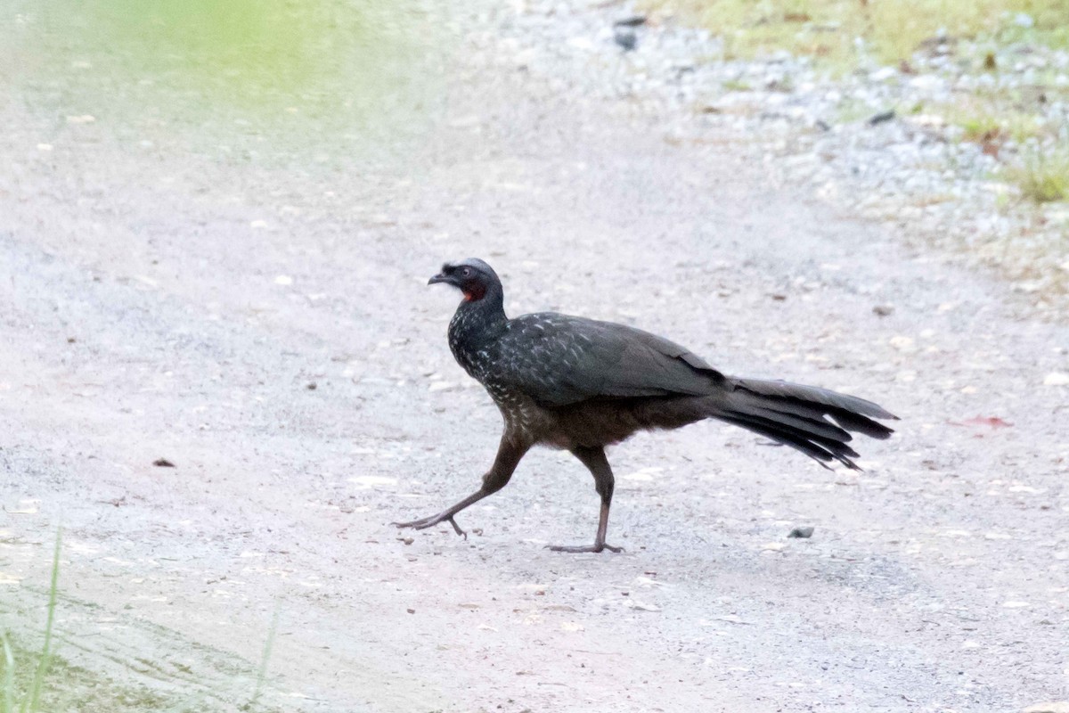
[[[926,40],[1031,38],[1069,47],[1069,0],[646,0],[648,10],[680,14],[722,36],[728,57],[778,49],[853,65],[862,52],[883,63],[909,60]],[[1012,21],[1017,13],[1032,28]]]

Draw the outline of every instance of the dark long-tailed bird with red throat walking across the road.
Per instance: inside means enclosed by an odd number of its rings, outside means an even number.
[[[853,431],[887,438],[873,419],[896,419],[870,401],[816,386],[727,376],[686,348],[622,324],[539,312],[505,315],[501,281],[478,259],[447,263],[429,284],[464,293],[449,323],[456,361],[485,387],[505,419],[494,465],[478,491],[451,508],[398,527],[423,529],[505,487],[531,446],[571,451],[594,477],[601,496],[592,545],[557,552],[620,552],[605,544],[613,470],[605,446],[636,431],[678,429],[715,418],[795,448],[821,465],[851,460]],[[831,419],[831,420],[830,420]],[[827,467],[827,466],[824,466]]]

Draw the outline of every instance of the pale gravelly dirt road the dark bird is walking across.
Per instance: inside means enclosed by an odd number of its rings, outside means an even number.
[[[6,106],[2,625],[40,626],[62,525],[63,654],[196,710],[248,699],[276,607],[264,701],[288,711],[1065,698],[1066,328],[570,81],[475,56],[433,131],[337,166],[146,157],[107,126],[43,156]],[[597,499],[537,452],[464,514],[481,533],[406,544],[389,523],[468,493],[498,435],[448,353],[455,296],[424,286],[467,255],[511,313],[856,392],[899,437],[861,475],[715,424],[637,437],[616,557],[543,549],[588,540]]]

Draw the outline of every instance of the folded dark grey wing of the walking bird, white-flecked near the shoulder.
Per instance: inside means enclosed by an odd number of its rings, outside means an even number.
[[[724,375],[641,329],[552,312],[508,323],[496,378],[545,406],[595,398],[704,396]]]

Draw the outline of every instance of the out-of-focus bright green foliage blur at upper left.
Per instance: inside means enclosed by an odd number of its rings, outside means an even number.
[[[46,0],[43,7],[50,30],[80,32],[75,40],[87,49],[128,53],[144,71],[179,73],[237,102],[299,96],[346,66],[356,79],[373,78],[389,71],[403,40],[369,2]],[[63,19],[74,9],[77,24]]]

